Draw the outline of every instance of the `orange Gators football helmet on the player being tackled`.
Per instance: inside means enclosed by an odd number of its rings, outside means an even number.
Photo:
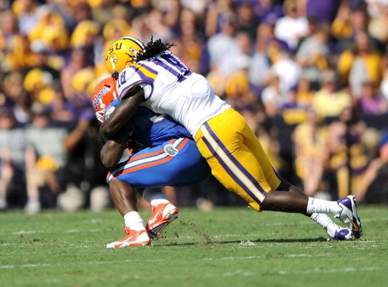
[[[99,121],[104,122],[103,116],[106,107],[117,98],[116,80],[113,77],[106,77],[95,86],[91,103]]]

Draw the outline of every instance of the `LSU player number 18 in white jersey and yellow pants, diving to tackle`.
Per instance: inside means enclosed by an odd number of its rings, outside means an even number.
[[[256,211],[301,213],[325,228],[331,238],[359,238],[355,197],[337,201],[307,197],[282,179],[245,119],[212,92],[205,77],[172,55],[171,46],[152,38],[144,46],[133,37],[120,38],[110,46],[106,64],[117,77],[122,102],[101,126],[101,135],[114,136],[139,105],[168,114],[195,139],[214,177]],[[347,228],[326,214],[333,214]]]

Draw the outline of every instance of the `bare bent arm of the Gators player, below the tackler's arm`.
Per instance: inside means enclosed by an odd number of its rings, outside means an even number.
[[[132,128],[129,122],[119,129],[118,133],[108,139],[100,152],[103,165],[111,170],[120,160],[123,151],[127,148],[128,134]]]

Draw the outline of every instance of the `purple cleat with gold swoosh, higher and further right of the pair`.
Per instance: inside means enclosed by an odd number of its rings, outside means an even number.
[[[352,229],[353,236],[360,238],[362,235],[361,220],[357,216],[357,203],[354,195],[348,195],[347,197],[337,200],[338,205],[342,207],[340,214],[334,215],[335,218],[339,218],[342,222]]]

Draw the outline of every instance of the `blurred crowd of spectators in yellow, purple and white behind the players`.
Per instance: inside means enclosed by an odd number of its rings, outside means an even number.
[[[0,209],[109,206],[90,105],[117,38],[153,36],[309,196],[388,202],[386,0],[0,0]],[[213,178],[178,204],[238,204]]]

